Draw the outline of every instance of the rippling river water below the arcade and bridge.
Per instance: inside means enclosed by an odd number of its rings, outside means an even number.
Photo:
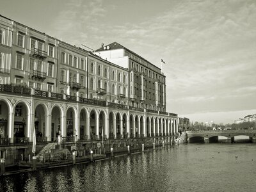
[[[252,143],[166,146],[0,178],[0,191],[255,191]]]

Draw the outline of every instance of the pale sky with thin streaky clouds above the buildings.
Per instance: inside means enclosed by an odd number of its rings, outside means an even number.
[[[124,45],[162,67],[166,111],[191,122],[256,113],[255,0],[1,0],[0,14],[72,45]]]

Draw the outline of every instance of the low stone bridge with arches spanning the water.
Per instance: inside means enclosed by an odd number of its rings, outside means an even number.
[[[256,129],[241,130],[212,130],[212,131],[186,131],[188,142],[204,140],[205,143],[218,141],[218,136],[224,136],[229,143],[235,136],[248,136],[252,143],[256,143]]]

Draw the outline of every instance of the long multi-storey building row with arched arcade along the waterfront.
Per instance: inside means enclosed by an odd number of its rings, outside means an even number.
[[[177,133],[160,68],[125,47],[112,61],[109,50],[99,56],[0,16],[0,158],[24,152],[33,130],[38,142]]]

